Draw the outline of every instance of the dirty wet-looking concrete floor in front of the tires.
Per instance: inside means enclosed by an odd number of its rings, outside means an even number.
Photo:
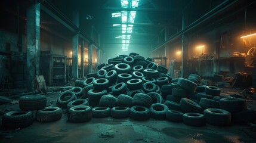
[[[225,90],[222,92],[224,94]],[[55,104],[58,93],[47,95],[48,105]],[[255,101],[248,103],[251,107],[256,105]],[[0,111],[4,113],[17,109],[18,100],[0,105]],[[256,132],[247,125],[218,127],[206,124],[192,127],[155,119],[136,121],[106,117],[92,118],[85,123],[72,123],[67,121],[67,114],[63,113],[57,122],[41,123],[35,120],[33,125],[24,129],[0,128],[0,142],[256,142]]]

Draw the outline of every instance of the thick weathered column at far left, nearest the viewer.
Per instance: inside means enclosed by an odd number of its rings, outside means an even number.
[[[27,7],[27,91],[34,91],[35,76],[39,74],[40,3]]]

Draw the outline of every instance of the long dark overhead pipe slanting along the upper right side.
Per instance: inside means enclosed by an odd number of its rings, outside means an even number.
[[[194,29],[195,27],[200,26],[201,24],[203,24],[205,21],[211,20],[211,18],[214,18],[215,15],[223,13],[224,11],[227,10],[227,8],[232,8],[234,7],[238,2],[242,2],[241,0],[226,0],[224,2],[222,2],[220,5],[218,5],[217,7],[215,7],[214,9],[212,9],[211,11],[209,11],[208,13],[206,13],[205,15],[203,15],[202,17],[198,18],[198,20],[194,21],[193,23],[191,23],[189,26],[186,27],[186,29],[181,30],[180,32],[178,32],[177,34],[175,34],[174,36],[171,36],[170,38],[168,38],[164,43],[162,43],[161,45],[156,46],[155,49],[152,50],[155,51],[158,48],[161,48],[162,46],[164,46],[166,43],[169,43],[171,41],[174,41],[177,38],[180,38],[181,35],[183,35],[184,33],[189,32],[190,30]]]

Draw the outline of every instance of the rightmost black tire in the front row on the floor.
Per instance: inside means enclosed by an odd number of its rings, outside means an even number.
[[[216,126],[227,126],[231,123],[231,114],[229,111],[218,109],[218,108],[208,108],[203,111],[205,115],[206,123]]]

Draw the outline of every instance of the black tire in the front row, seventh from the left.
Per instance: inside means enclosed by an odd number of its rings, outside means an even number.
[[[155,103],[150,105],[149,111],[150,111],[150,117],[153,119],[165,119],[166,112],[169,110],[169,108],[165,104],[161,103]]]

